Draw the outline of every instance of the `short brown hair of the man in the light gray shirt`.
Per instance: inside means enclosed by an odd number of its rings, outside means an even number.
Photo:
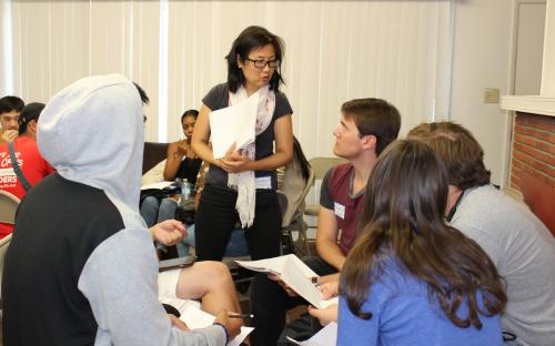
[[[450,184],[461,190],[490,183],[492,173],[484,165],[484,150],[472,133],[453,122],[422,123],[408,131],[434,150],[447,167]]]

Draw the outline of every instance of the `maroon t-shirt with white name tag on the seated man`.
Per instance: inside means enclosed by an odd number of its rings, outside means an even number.
[[[364,192],[362,189],[353,195],[354,167],[350,163],[340,164],[330,171],[322,181],[320,205],[335,214],[339,228],[342,230],[340,248],[347,254],[356,238],[359,217],[364,208]]]

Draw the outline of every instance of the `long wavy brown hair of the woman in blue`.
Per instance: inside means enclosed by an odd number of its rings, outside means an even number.
[[[474,241],[445,224],[446,204],[447,173],[428,145],[403,140],[385,149],[366,186],[362,232],[342,271],[341,293],[353,314],[372,317],[362,305],[382,275],[384,254],[425,282],[430,301],[458,327],[480,329],[478,313],[503,312],[507,297],[501,276]],[[458,312],[462,304],[468,305],[467,316]]]

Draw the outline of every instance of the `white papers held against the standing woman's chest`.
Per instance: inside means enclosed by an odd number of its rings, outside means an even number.
[[[228,108],[210,113],[210,132],[212,134],[212,153],[214,159],[225,156],[233,142],[242,149],[254,142],[259,93]]]

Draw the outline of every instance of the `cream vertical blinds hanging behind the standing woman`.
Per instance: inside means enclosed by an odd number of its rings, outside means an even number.
[[[403,116],[402,133],[447,114],[448,0],[11,4],[13,44],[6,52],[13,55],[16,93],[47,101],[79,78],[123,73],[151,96],[149,141],[183,135],[181,113],[199,108],[210,88],[225,81],[223,58],[250,24],[285,42],[283,91],[307,157],[332,154],[340,106],[354,98],[392,102]]]

